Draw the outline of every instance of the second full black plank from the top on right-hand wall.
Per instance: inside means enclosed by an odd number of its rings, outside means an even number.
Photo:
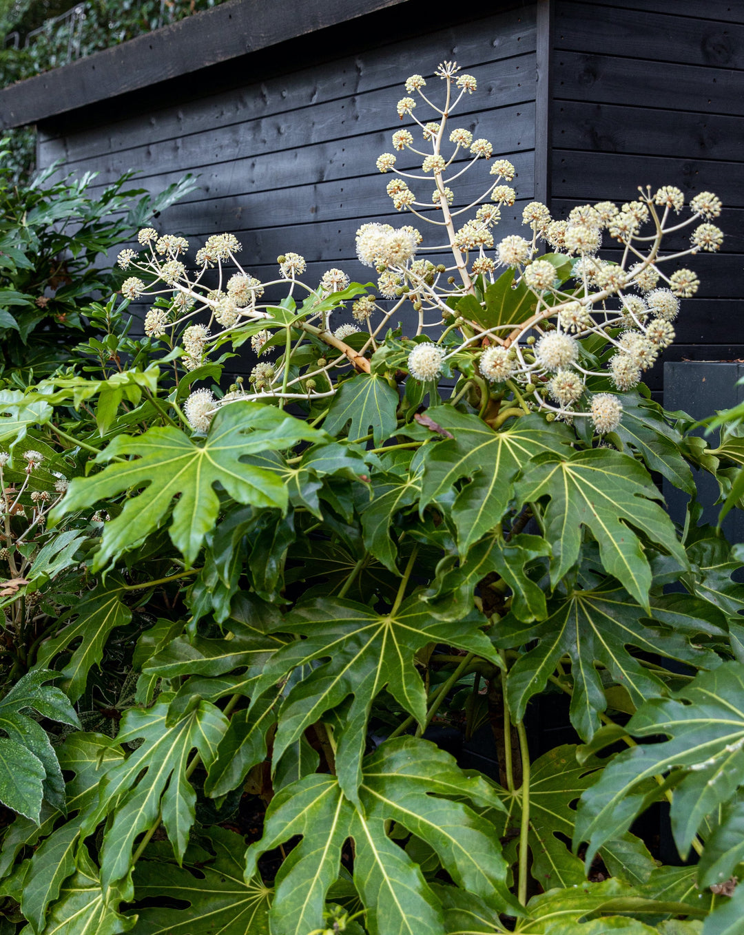
[[[744,115],[736,71],[566,50],[556,52],[553,68],[561,100]]]

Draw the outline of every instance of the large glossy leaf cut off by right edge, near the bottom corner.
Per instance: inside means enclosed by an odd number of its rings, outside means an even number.
[[[636,737],[661,734],[669,739],[615,757],[581,798],[575,841],[589,841],[591,862],[597,848],[623,833],[658,798],[658,786],[649,787],[649,779],[671,770],[666,784],[675,790],[672,831],[684,856],[706,817],[744,783],[744,665],[724,663],[701,672],[674,698],[650,699],[626,729]],[[737,821],[737,814],[730,810],[730,820]]]

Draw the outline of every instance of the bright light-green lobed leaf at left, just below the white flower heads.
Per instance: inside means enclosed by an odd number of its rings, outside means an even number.
[[[132,547],[133,529],[138,541],[152,532],[177,497],[170,538],[186,560],[193,562],[219,512],[215,484],[221,484],[239,503],[286,508],[287,492],[281,480],[272,471],[242,464],[242,455],[322,438],[322,433],[299,419],[255,402],[233,403],[220,410],[208,438],[200,444],[171,426],[151,428],[137,438],[120,435],[96,461],[106,463],[127,454],[138,457],[111,464],[91,477],[76,478],[55,509],[53,521],[124,491],[140,491],[106,524],[94,559],[94,570],[98,570]]]

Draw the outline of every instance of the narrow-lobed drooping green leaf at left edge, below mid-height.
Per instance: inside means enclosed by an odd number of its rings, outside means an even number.
[[[66,679],[66,692],[73,701],[85,691],[88,672],[100,665],[111,630],[126,626],[132,619],[132,611],[122,601],[125,593],[123,579],[119,575],[109,575],[106,583],[99,584],[66,611],[56,635],[41,644],[38,664],[45,666],[65,652],[73,641],[80,640],[60,673]]]

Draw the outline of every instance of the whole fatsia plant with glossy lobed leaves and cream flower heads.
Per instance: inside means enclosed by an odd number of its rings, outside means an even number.
[[[694,479],[738,509],[740,413],[711,447],[640,381],[721,204],[532,202],[496,243],[514,167],[456,194],[492,152],[437,76],[398,104],[426,153],[377,162],[430,259],[365,223],[376,287],[260,282],[143,228],[70,366],[0,396],[3,931],[737,930],[743,556]]]

